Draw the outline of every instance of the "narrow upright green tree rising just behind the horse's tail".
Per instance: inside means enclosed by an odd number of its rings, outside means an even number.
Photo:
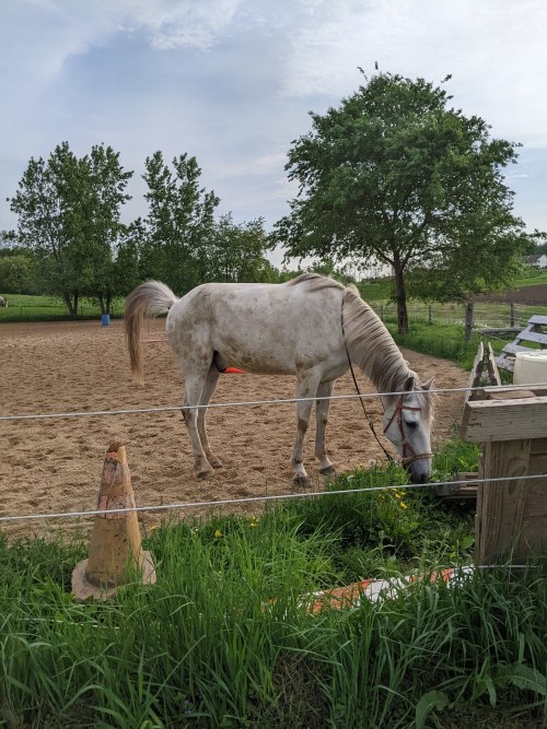
[[[141,274],[184,294],[206,280],[206,248],[220,200],[199,187],[201,169],[196,157],[182,154],[172,165],[173,172],[160,151],[146,161],[149,212],[143,221]]]

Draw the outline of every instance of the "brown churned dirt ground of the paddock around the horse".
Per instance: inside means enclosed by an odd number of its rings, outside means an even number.
[[[158,338],[162,331],[163,322],[155,320],[144,338]],[[147,384],[139,387],[130,378],[121,321],[112,321],[109,327],[98,321],[2,325],[0,414],[178,405],[183,377],[168,344],[148,341],[143,346]],[[404,355],[423,379],[434,375],[437,387],[467,384],[468,375],[451,362],[409,351]],[[359,379],[362,392],[374,391],[360,373]],[[294,392],[293,377],[231,374],[221,377],[213,401],[281,399]],[[336,384],[335,395],[353,392],[347,374]],[[441,396],[434,439],[451,434],[461,421],[462,403],[461,392]],[[370,400],[368,410],[381,433],[380,400]],[[104,455],[113,440],[127,447],[139,506],[291,493],[289,458],[295,422],[293,403],[210,410],[209,436],[223,468],[212,479],[198,481],[186,426],[177,411],[0,421],[0,516],[94,508]],[[311,428],[304,462],[312,485],[321,487],[313,440]],[[339,472],[383,458],[357,399],[333,402],[327,447]],[[245,506],[247,512],[260,508],[259,504]],[[190,512],[196,509],[183,513]],[[144,530],[161,518],[143,515]],[[90,522],[80,522],[80,527]],[[0,530],[10,536],[32,534],[59,526],[74,529],[74,519],[4,522]]]

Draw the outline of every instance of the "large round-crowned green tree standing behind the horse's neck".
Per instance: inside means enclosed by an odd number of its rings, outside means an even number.
[[[292,143],[286,168],[300,189],[275,240],[288,257],[391,267],[398,330],[407,333],[411,269],[438,282],[461,277],[458,294],[479,281],[507,282],[523,223],[502,168],[517,145],[490,139],[481,118],[449,108],[444,89],[423,79],[364,78],[338,108],[311,113],[312,131]]]

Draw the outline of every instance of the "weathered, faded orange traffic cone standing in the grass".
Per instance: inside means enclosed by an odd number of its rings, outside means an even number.
[[[155,583],[150,552],[141,549],[137,512],[108,513],[135,507],[126,447],[113,443],[108,448],[98,492],[97,510],[90,541],[90,555],[72,572],[72,595],[77,600],[106,599],[118,587],[140,574],[144,585]]]

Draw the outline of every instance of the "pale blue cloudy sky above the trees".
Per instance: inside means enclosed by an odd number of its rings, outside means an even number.
[[[135,171],[124,220],[146,214],[144,160],[196,156],[236,223],[284,215],[284,165],[358,70],[439,84],[492,137],[522,143],[514,211],[547,230],[545,0],[0,0],[0,230],[31,157],[105,143]],[[281,252],[274,254],[280,264]]]

